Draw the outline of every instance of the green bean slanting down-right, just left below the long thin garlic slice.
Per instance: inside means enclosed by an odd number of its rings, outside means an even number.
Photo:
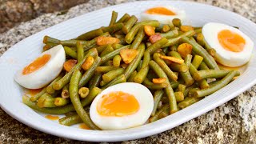
[[[167,77],[170,78],[172,81],[176,82],[178,77],[172,70],[170,70],[169,66],[166,65],[166,62],[164,62],[160,58],[160,54],[154,53],[153,55],[154,61],[158,63],[158,65],[162,68],[162,70],[166,73]]]

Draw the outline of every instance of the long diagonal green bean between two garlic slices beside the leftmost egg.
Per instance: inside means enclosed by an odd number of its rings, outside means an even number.
[[[67,74],[64,75],[64,77],[62,77],[60,80],[58,80],[58,82],[55,82],[53,85],[54,90],[61,90],[63,86],[65,86],[67,83],[70,82],[70,78],[74,72],[74,70],[79,70],[81,68],[81,65],[83,62],[86,61],[86,58],[89,56],[95,56],[97,55],[98,52],[95,48],[91,49],[88,51],[88,54],[86,54],[86,56],[82,59],[81,62],[78,62],[71,70],[70,72],[68,72]],[[90,66],[92,67],[92,66]]]

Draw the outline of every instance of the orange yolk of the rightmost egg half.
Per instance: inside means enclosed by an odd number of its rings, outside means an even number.
[[[218,42],[226,50],[232,52],[241,52],[246,45],[246,40],[241,35],[230,30],[222,30],[218,33]]]

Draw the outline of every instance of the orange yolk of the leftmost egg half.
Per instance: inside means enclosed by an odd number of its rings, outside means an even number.
[[[48,61],[50,60],[50,54],[43,54],[42,57],[36,58],[34,62],[31,62],[29,66],[26,66],[22,74],[31,74],[35,70],[40,69],[42,66],[44,66]]]

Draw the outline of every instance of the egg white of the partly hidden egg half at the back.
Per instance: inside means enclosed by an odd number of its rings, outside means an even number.
[[[162,24],[169,24],[174,18],[179,18],[182,21],[182,23],[185,22],[185,19],[186,19],[185,10],[180,10],[173,6],[156,6],[156,7],[164,7],[168,10],[173,11],[175,15],[147,14],[146,11],[144,11],[141,14],[142,21],[158,20],[158,22]]]

